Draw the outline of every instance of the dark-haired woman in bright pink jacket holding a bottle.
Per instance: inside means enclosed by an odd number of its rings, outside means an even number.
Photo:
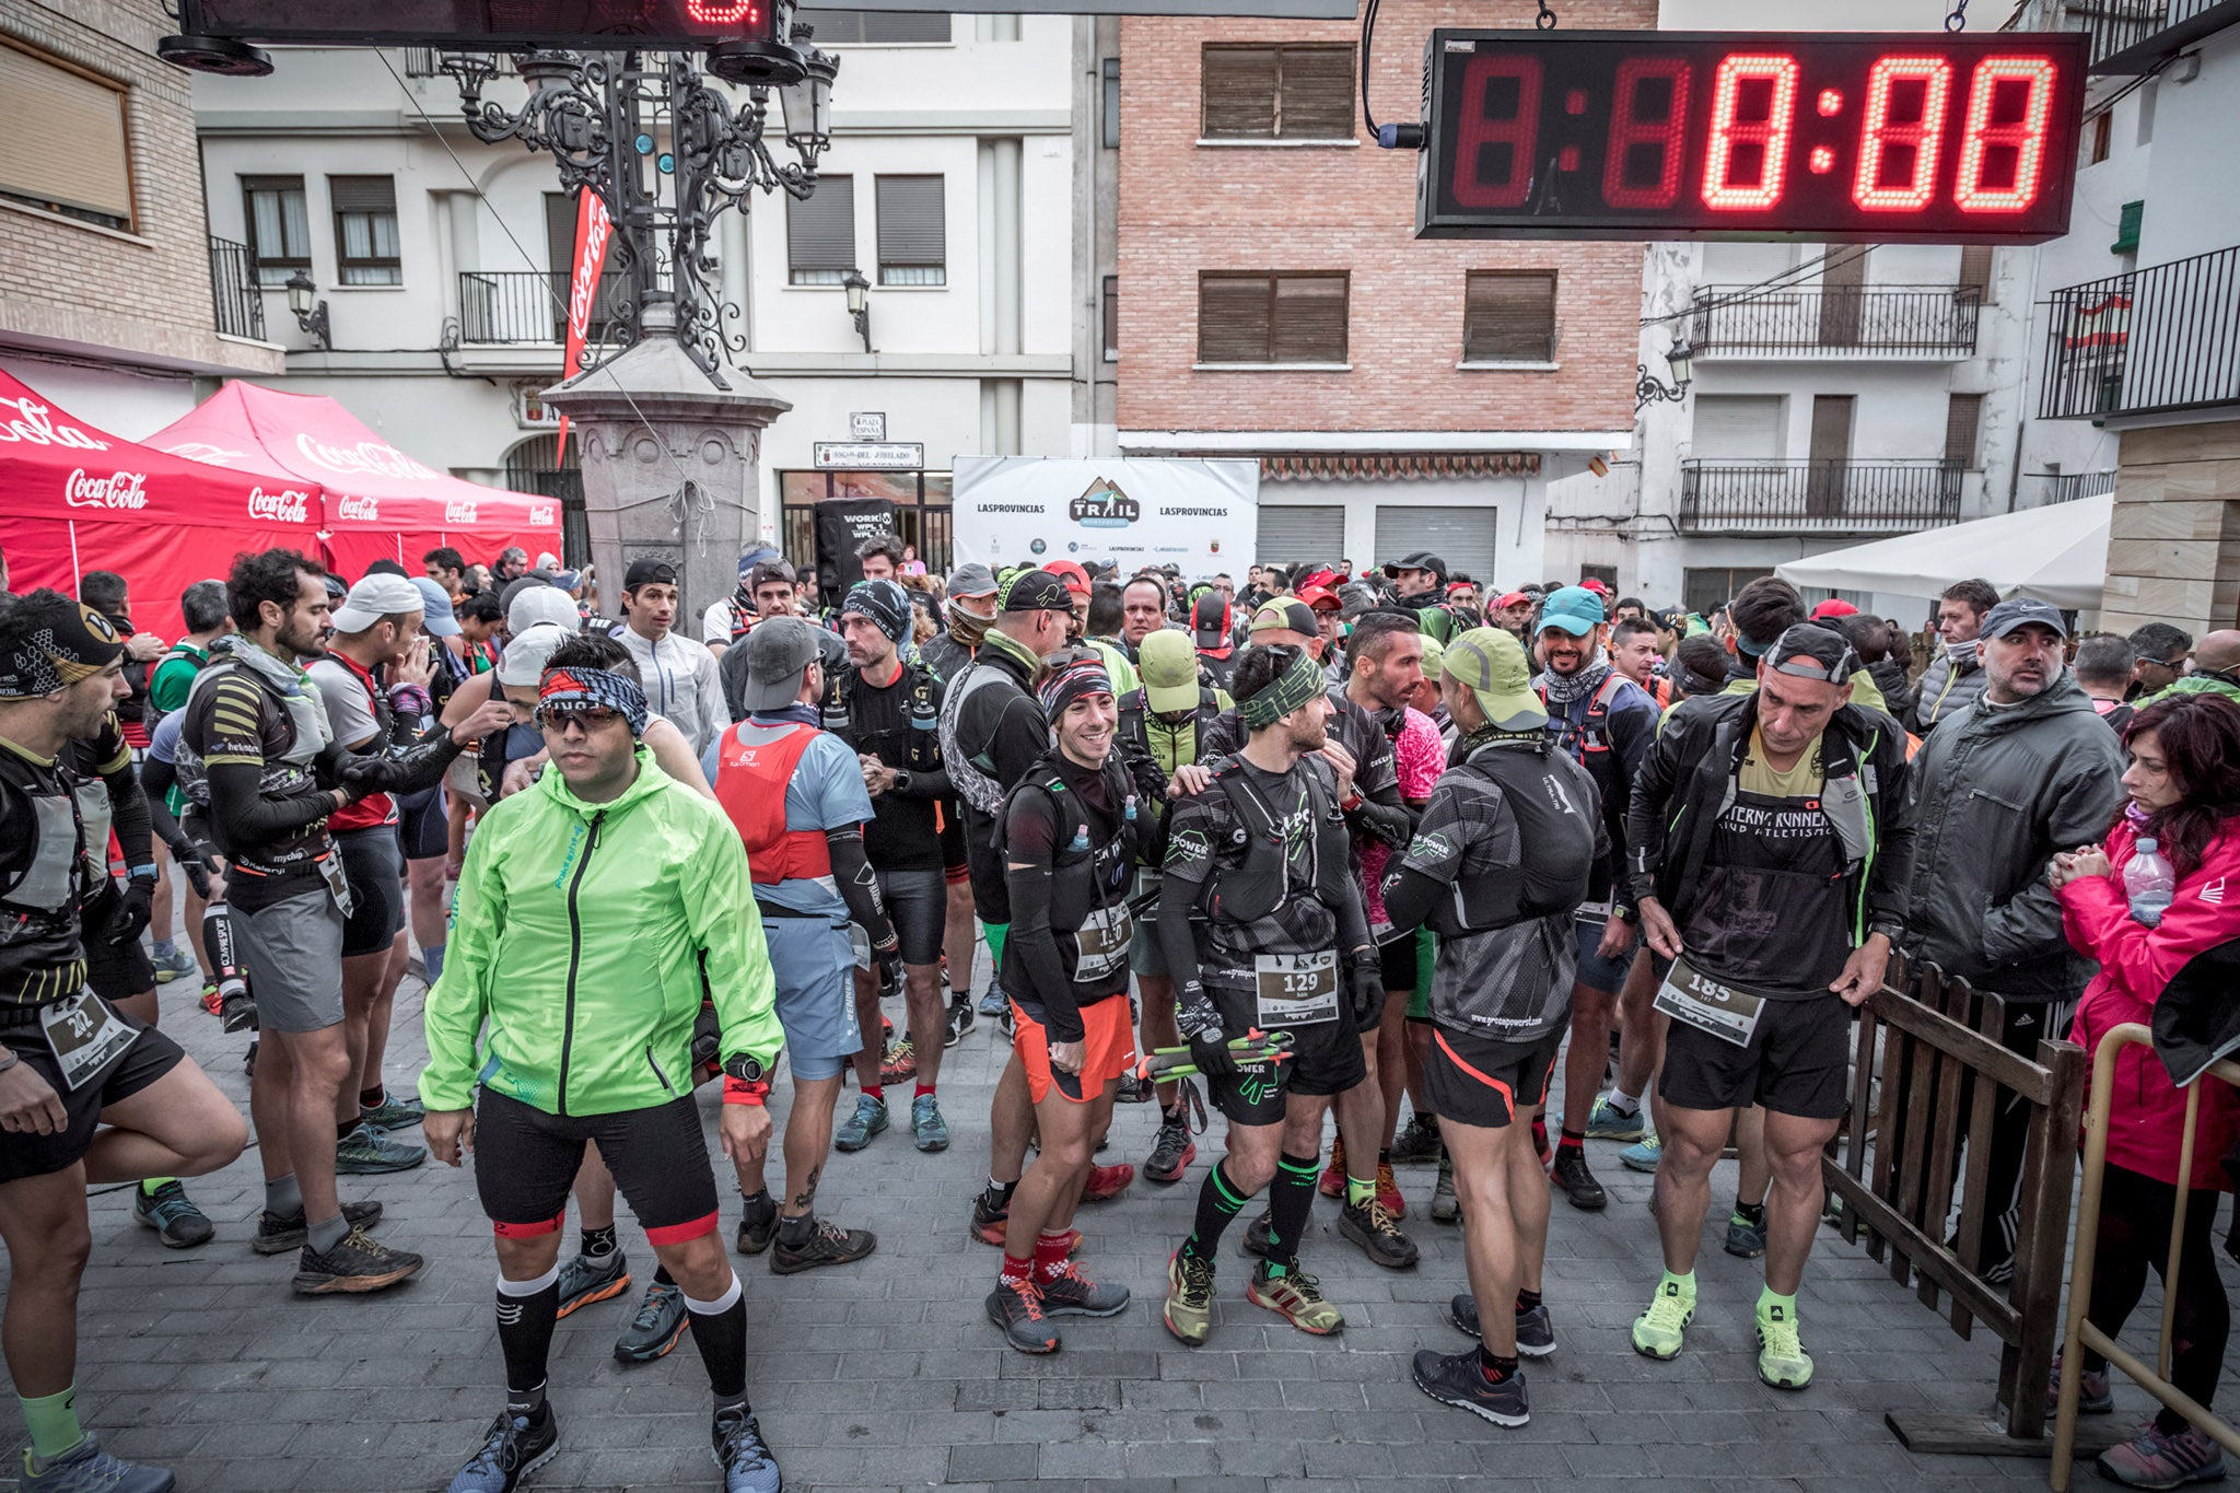
[[[2171,978],[2193,956],[2240,938],[2240,705],[2213,694],[2148,705],[2126,730],[2124,745],[2130,806],[2106,848],[2056,855],[2052,866],[2070,945],[2101,965],[2070,1027],[2070,1039],[2088,1054],[2126,1021],[2153,1025],[2155,1001]],[[2132,915],[2124,889],[2124,866],[2139,839],[2155,839],[2177,873],[2171,907],[2153,927]],[[2155,1050],[2128,1048],[2115,1065],[2088,1316],[2101,1332],[2121,1330],[2146,1289],[2146,1271],[2159,1274],[2168,1262],[2177,1189],[2191,1189],[2171,1377],[2206,1406],[2231,1327],[2211,1224],[2218,1193],[2231,1189],[2220,1159],[2240,1135],[2240,1097],[2227,1083],[2202,1081],[2188,1177],[2177,1175],[2184,1117],[2186,1095],[2171,1083]],[[2108,1363],[2097,1354],[2085,1356],[2083,1408],[2112,1408]],[[2137,1439],[2103,1453],[2099,1464],[2115,1482],[2137,1489],[2224,1475],[2218,1444],[2173,1410],[2157,1412]]]

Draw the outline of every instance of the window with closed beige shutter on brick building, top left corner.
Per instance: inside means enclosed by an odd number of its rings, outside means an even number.
[[[4,43],[0,110],[9,121],[0,197],[132,231],[132,157],[125,150],[121,83]]]

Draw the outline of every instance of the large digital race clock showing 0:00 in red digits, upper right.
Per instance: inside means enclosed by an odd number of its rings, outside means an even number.
[[[1431,31],[1420,237],[2036,244],[2081,31]]]

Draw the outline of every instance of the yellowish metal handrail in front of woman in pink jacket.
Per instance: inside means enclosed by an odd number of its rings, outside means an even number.
[[[2240,1088],[2240,1063],[2215,1061],[2193,1083],[2186,1083],[2186,1133],[2177,1146],[2177,1202],[2171,1209],[2171,1260],[2162,1271],[2162,1332],[2155,1341],[2155,1368],[2124,1352],[2112,1336],[2085,1321],[2092,1307],[2092,1258],[2099,1253],[2099,1209],[2101,1177],[2108,1171],[2108,1110],[2115,1097],[2115,1061],[2124,1048],[2153,1045],[2155,1034],[2137,1021],[2126,1021],[2101,1039],[2092,1054],[2092,1104],[2085,1110],[2085,1180],[2083,1198],[2076,1206],[2076,1247],[2070,1265],[2070,1316],[2068,1334],[2061,1343],[2061,1392],[2054,1401],[2054,1464],[2047,1482],[2054,1493],[2068,1493],[2070,1466],[2076,1459],[2076,1401],[2083,1390],[2085,1350],[2108,1359],[2108,1368],[2119,1368],[2141,1390],[2159,1399],[2171,1410],[2186,1417],[2202,1435],[2240,1457],[2240,1430],[2233,1430],[2206,1406],[2195,1403],[2171,1383],[2171,1334],[2177,1323],[2177,1260],[2186,1240],[2186,1202],[2193,1189],[2193,1128],[2202,1112],[2202,1079],[2218,1079]],[[2220,1287],[2222,1289],[2222,1287]],[[2016,1390],[2020,1392],[2020,1390]]]

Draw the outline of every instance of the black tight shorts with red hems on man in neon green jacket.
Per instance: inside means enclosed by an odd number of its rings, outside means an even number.
[[[647,1242],[715,1233],[715,1173],[692,1095],[614,1115],[547,1115],[484,1088],[475,1104],[475,1191],[491,1227],[506,1238],[558,1231],[585,1142],[598,1142]]]

